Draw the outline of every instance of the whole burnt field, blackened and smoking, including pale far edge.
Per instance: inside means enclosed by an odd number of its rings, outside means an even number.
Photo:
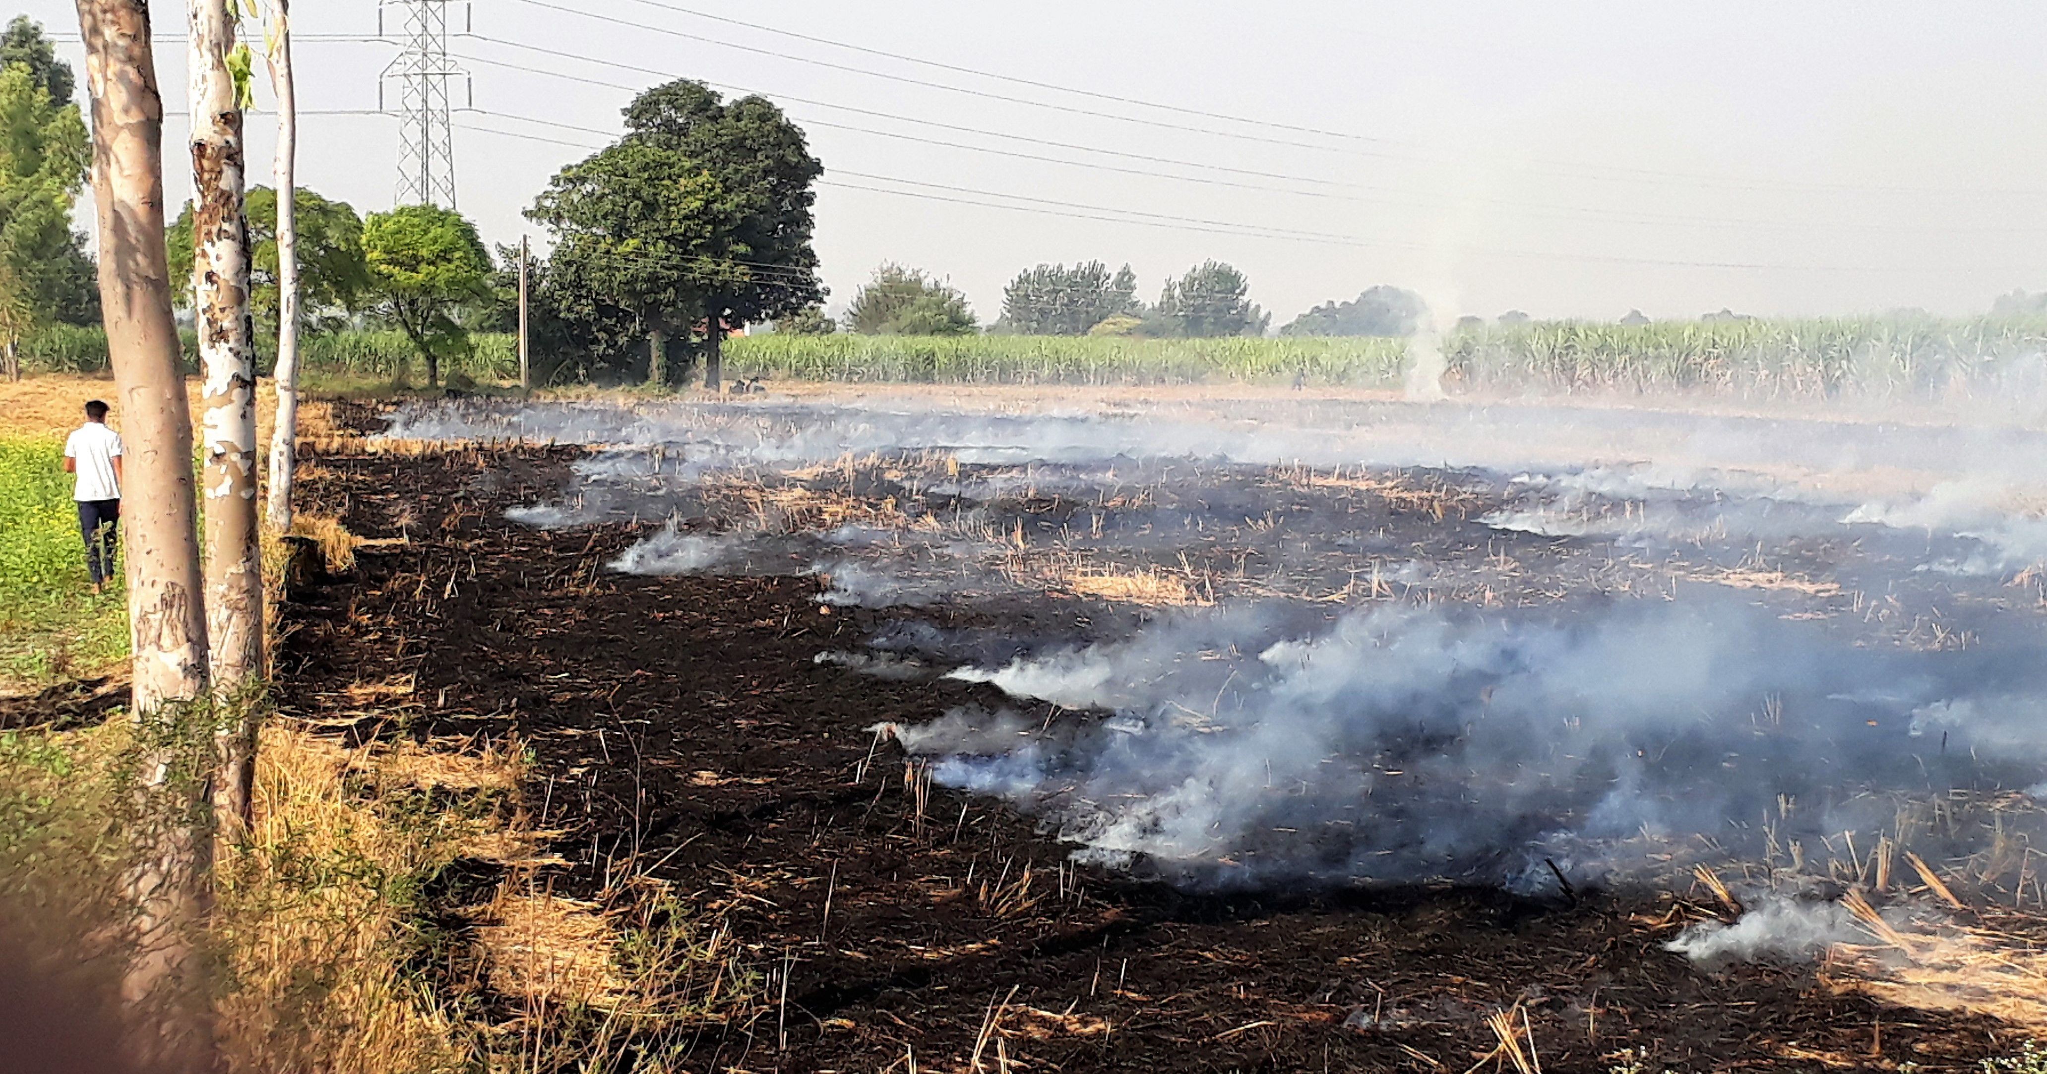
[[[1975,1070],[2035,1031],[2022,491],[1943,485],[1924,430],[1388,452],[1265,407],[356,409],[399,440],[309,456],[368,544],[289,610],[282,710],[516,734],[557,888],[647,874],[747,951],[692,1070]]]

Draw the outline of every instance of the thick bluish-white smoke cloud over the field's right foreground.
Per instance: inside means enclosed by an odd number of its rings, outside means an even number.
[[[2039,706],[2014,704],[2033,693],[1984,689],[1981,665],[1871,653],[1732,597],[1371,608],[1306,630],[1238,608],[954,677],[1107,718],[1001,753],[952,741],[956,720],[905,728],[940,779],[1009,788],[1085,859],[1216,882],[1541,886],[1545,857],[1627,882],[1736,841],[1730,816],[1795,800],[1787,831],[1863,831],[1896,822],[1889,794],[2029,786],[2047,761]],[[1922,745],[1930,718],[1953,753]],[[1977,745],[1998,763],[1967,761]]]

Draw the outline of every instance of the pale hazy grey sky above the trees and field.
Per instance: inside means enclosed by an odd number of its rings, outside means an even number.
[[[182,35],[182,4],[154,8]],[[70,4],[27,10],[76,37]],[[397,45],[311,39],[375,35],[375,4],[295,16],[301,108],[377,108]],[[950,276],[983,321],[1019,268],[1091,258],[1130,262],[1146,299],[1228,260],[1275,325],[1378,282],[1603,319],[1967,313],[2047,288],[2039,2],[479,0],[467,18],[452,51],[479,113],[456,115],[456,180],[485,239],[542,237],[520,211],[649,72],[700,78],[809,129],[833,307],[890,260]],[[160,43],[160,78],[182,110],[182,41]],[[250,119],[264,182],[270,123]],[[174,200],[182,137],[172,119]],[[309,115],[301,184],[387,209],[395,139],[389,117]]]

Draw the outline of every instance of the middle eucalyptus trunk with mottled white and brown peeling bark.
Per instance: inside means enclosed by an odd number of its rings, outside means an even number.
[[[237,837],[256,771],[254,691],[262,683],[262,554],[256,546],[256,327],[242,209],[242,88],[231,0],[190,0],[192,321],[205,374],[207,636],[221,704],[213,802]]]

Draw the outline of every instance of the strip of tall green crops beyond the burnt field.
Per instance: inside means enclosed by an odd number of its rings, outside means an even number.
[[[473,333],[448,374],[518,376],[510,333]],[[1803,321],[1529,321],[1464,327],[1439,342],[1447,387],[1515,391],[1707,391],[1820,397],[1939,393],[1953,385],[2037,378],[2047,385],[2047,315],[1971,319],[1838,317]],[[190,354],[190,340],[186,352]],[[27,338],[29,368],[106,368],[100,329],[47,327]],[[332,331],[305,342],[307,372],[420,383],[399,331]],[[1392,387],[1410,362],[1398,338],[1134,335],[790,335],[735,338],[731,376],[770,381],[1157,385],[1197,381]],[[542,354],[534,364],[549,368]],[[628,381],[633,376],[626,376]]]

